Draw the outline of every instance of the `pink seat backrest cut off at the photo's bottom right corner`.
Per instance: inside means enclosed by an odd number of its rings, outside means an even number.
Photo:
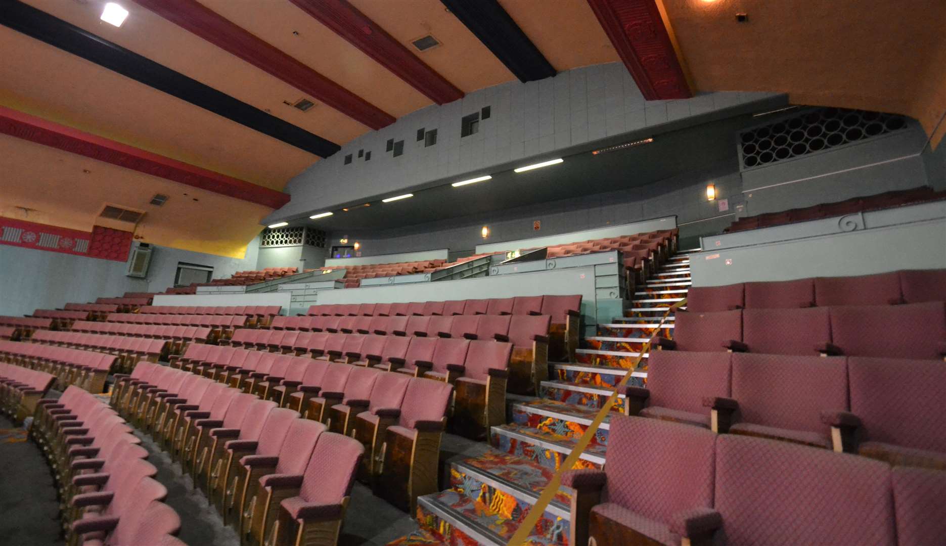
[[[936,544],[946,537],[942,500],[946,472],[932,468],[894,467],[893,505],[900,544]]]

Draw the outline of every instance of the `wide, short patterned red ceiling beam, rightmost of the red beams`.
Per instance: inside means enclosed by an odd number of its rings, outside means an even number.
[[[587,0],[646,100],[690,98],[657,0]]]

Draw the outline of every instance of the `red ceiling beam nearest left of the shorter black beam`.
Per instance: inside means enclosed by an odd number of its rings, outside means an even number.
[[[464,97],[463,91],[417,59],[410,49],[345,0],[289,1],[437,104]]]

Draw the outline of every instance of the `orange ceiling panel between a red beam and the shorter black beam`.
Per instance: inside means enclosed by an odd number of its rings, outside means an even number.
[[[516,79],[438,0],[349,1],[464,93]],[[411,42],[428,34],[441,44],[418,51]]]

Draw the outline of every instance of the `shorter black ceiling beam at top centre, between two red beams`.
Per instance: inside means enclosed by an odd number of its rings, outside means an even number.
[[[555,69],[497,0],[440,0],[520,81],[546,79]]]

